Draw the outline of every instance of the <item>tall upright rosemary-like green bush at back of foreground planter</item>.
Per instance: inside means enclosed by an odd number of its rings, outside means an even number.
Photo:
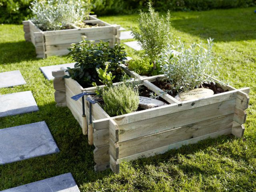
[[[148,2],[148,12],[140,10],[138,19],[138,30],[132,27],[132,35],[144,50],[144,57],[150,59],[154,69],[160,53],[167,45],[172,44],[173,32],[171,26],[171,15],[168,11],[166,16],[160,16]]]

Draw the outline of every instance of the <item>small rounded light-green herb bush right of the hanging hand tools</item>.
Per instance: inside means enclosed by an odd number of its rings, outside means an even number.
[[[139,93],[132,86],[120,84],[103,91],[104,110],[110,116],[118,116],[134,112],[139,106]]]

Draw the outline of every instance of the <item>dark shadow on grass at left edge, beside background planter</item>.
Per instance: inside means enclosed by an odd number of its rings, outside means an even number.
[[[31,42],[0,43],[0,64],[37,60],[36,50]]]

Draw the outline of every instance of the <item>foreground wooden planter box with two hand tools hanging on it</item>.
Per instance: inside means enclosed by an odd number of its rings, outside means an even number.
[[[124,70],[136,77],[138,74]],[[83,126],[82,101],[70,97],[84,90],[78,82],[63,79],[64,70],[53,72],[57,106],[68,106]],[[164,76],[140,77],[141,84],[158,95],[162,90],[152,84]],[[94,162],[96,171],[111,168],[119,172],[119,163],[141,157],[163,154],[170,149],[196,143],[207,138],[233,134],[242,137],[245,109],[248,108],[250,88],[236,89],[216,80],[227,92],[205,98],[179,102],[168,94],[162,94],[169,104],[121,116],[110,117],[99,104],[92,105]],[[88,115],[86,101],[86,115]]]

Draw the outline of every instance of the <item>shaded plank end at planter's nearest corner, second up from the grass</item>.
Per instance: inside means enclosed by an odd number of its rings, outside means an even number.
[[[104,164],[109,162],[109,146],[96,147],[93,150],[93,158],[96,164]]]

